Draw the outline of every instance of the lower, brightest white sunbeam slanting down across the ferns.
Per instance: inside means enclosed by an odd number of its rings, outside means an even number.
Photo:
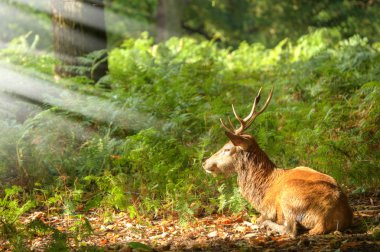
[[[104,98],[64,89],[55,83],[22,73],[19,67],[9,67],[4,63],[0,64],[0,91],[56,106],[125,130],[139,130],[158,123],[151,115],[138,112],[138,108],[123,108]]]

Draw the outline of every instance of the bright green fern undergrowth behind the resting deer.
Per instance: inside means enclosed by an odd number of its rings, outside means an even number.
[[[340,37],[321,29],[296,44],[243,42],[236,50],[190,38],[128,39],[109,53],[102,83],[52,84],[81,95],[63,93],[60,105],[33,107],[22,119],[24,103],[0,110],[2,187],[24,186],[36,206],[68,214],[102,206],[132,218],[189,219],[249,209],[234,178],[209,177],[201,163],[227,141],[219,118],[231,115],[230,104],[246,113],[260,87],[274,96],[250,132],[278,167],[305,165],[345,186],[378,187],[380,44]],[[53,57],[36,56],[25,41],[0,56],[53,81]],[[30,208],[28,197],[22,204]]]

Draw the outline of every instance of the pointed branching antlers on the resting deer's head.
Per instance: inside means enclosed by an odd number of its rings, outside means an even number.
[[[270,100],[272,99],[272,95],[273,95],[273,88],[270,90],[269,92],[269,96],[268,96],[268,99],[266,100],[264,106],[258,111],[256,112],[256,106],[257,104],[259,103],[260,101],[260,95],[261,95],[261,89],[259,90],[259,92],[257,93],[256,97],[255,97],[255,100],[253,102],[253,105],[252,105],[252,109],[251,109],[251,112],[249,113],[249,115],[247,117],[245,117],[244,119],[242,119],[235,111],[235,107],[234,105],[232,105],[232,112],[234,113],[236,119],[239,121],[240,123],[240,127],[238,129],[235,129],[231,123],[231,120],[230,118],[228,118],[228,121],[230,123],[230,127],[227,127],[223,120],[220,119],[220,122],[222,123],[222,126],[225,130],[229,131],[230,133],[233,133],[235,135],[240,135],[242,134],[246,129],[248,129],[251,124],[253,123],[253,121],[256,119],[257,116],[259,116],[262,112],[264,112],[264,110],[268,107],[268,104],[270,102]]]

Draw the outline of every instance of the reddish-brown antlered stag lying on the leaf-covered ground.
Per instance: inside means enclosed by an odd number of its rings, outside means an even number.
[[[310,235],[342,230],[352,223],[347,197],[332,177],[308,167],[279,169],[259,147],[255,138],[244,133],[268,106],[256,111],[261,89],[246,118],[232,111],[240,123],[235,129],[223,123],[230,141],[208,158],[203,168],[212,174],[237,173],[241,194],[261,213],[257,223],[280,234],[297,235],[297,227]]]

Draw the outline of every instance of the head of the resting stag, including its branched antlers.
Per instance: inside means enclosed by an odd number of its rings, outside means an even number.
[[[273,89],[270,91],[264,106],[259,111],[256,111],[257,104],[260,101],[260,94],[261,88],[254,99],[251,112],[244,119],[236,113],[235,107],[232,105],[232,111],[240,123],[238,128],[233,126],[229,118],[229,126],[227,126],[223,120],[220,119],[222,127],[226,130],[225,134],[230,141],[203,163],[203,169],[205,169],[207,173],[211,173],[213,175],[230,175],[235,172],[235,165],[239,158],[242,157],[242,154],[246,152],[261,151],[254,137],[250,134],[244,134],[244,131],[251,126],[256,117],[267,108],[272,98]]]

